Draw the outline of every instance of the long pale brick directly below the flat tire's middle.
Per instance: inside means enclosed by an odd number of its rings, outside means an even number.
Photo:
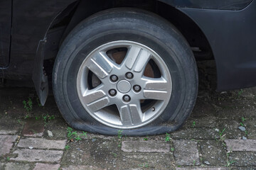
[[[170,145],[159,141],[124,141],[124,152],[170,152]]]

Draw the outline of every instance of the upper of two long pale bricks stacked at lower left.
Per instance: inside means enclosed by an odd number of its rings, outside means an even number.
[[[18,147],[33,147],[37,149],[64,149],[66,140],[46,140],[43,138],[26,138],[18,142]]]

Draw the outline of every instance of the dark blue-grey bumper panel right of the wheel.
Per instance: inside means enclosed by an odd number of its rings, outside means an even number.
[[[240,11],[179,9],[198,24],[210,43],[218,91],[256,86],[256,1]]]

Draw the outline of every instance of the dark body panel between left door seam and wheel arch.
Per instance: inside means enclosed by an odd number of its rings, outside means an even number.
[[[58,13],[74,1],[13,0],[10,64],[8,69],[0,72],[0,77],[26,80],[32,78],[40,40],[44,39],[50,23]]]

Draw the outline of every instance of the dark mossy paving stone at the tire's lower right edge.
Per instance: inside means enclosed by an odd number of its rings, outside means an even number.
[[[174,140],[215,140],[216,136],[218,136],[218,132],[206,128],[178,130],[171,133]]]

